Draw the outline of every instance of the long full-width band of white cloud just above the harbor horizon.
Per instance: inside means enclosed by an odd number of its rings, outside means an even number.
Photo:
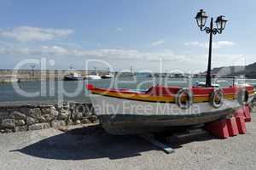
[[[125,49],[125,48],[102,48],[94,50],[85,50],[83,48],[75,48],[73,46],[34,46],[26,47],[24,45],[2,45],[0,47],[0,57],[5,59],[27,59],[27,58],[40,58],[47,57],[55,59],[56,68],[68,68],[70,62],[76,68],[83,68],[83,64],[86,59],[102,59],[107,61],[113,67],[118,68],[130,68],[131,65],[137,69],[149,69],[157,71],[159,68],[159,61],[162,63],[168,71],[183,70],[189,71],[206,71],[207,69],[207,54],[175,54],[174,52],[162,51],[162,52],[143,52],[137,49]],[[246,58],[248,63],[253,63],[253,55],[242,54],[212,54],[212,68],[224,65],[245,65],[241,56]],[[15,62],[12,62],[15,64]],[[3,63],[3,62],[2,62]],[[3,64],[2,64],[3,65]],[[65,65],[65,66],[62,66]]]

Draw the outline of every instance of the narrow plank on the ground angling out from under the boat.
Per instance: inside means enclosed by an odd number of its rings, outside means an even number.
[[[164,150],[167,154],[171,154],[175,151],[170,146],[163,144],[159,140],[155,139],[154,134],[141,134],[140,137],[147,140],[149,143],[154,144],[161,150]]]

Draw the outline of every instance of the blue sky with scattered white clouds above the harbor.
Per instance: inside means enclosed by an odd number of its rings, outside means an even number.
[[[0,68],[46,59],[47,69],[205,71],[209,35],[195,22],[201,8],[213,20],[221,14],[229,20],[224,32],[213,36],[212,67],[247,65],[256,62],[255,5],[253,0],[0,0]]]

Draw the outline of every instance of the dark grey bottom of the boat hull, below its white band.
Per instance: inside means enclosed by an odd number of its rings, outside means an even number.
[[[238,108],[237,108],[238,109]],[[137,116],[116,115],[99,116],[102,127],[114,135],[156,133],[173,130],[177,127],[190,127],[232,116],[235,110],[230,109],[218,113],[198,116]]]

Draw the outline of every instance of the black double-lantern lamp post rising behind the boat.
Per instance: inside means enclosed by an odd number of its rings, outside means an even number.
[[[212,86],[211,82],[211,64],[212,64],[212,35],[221,34],[224,31],[226,23],[228,20],[224,19],[224,15],[218,16],[215,21],[217,28],[213,28],[213,18],[211,18],[210,27],[206,26],[208,15],[207,13],[201,9],[195,16],[195,20],[197,22],[197,26],[200,27],[201,31],[206,31],[207,34],[210,34],[210,42],[209,42],[209,57],[208,57],[208,67],[207,67],[207,80],[206,87],[209,88]]]

